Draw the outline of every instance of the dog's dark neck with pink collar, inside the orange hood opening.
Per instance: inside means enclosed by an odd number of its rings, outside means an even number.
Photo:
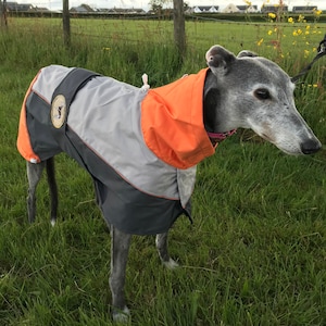
[[[236,133],[236,129],[226,130],[223,127],[225,116],[221,110],[220,99],[216,77],[209,70],[203,90],[203,123],[213,146]]]

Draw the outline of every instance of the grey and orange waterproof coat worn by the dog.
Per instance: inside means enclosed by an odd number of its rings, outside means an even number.
[[[196,164],[214,153],[203,125],[206,71],[145,90],[47,66],[25,96],[18,151],[32,163],[66,152],[91,175],[109,224],[167,231],[180,214],[190,217]]]

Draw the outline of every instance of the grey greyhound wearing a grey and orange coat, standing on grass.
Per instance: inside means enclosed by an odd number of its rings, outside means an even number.
[[[196,165],[237,128],[250,128],[287,154],[322,147],[293,100],[294,84],[275,63],[221,46],[208,67],[168,85],[137,88],[83,70],[40,70],[25,96],[17,148],[27,161],[27,211],[35,221],[37,184],[46,167],[51,223],[58,211],[53,156],[66,152],[91,175],[111,233],[112,314],[127,322],[124,285],[133,235],[156,235],[159,256],[180,214],[191,218]]]

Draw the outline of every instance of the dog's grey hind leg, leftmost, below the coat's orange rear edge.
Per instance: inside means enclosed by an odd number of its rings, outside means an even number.
[[[33,223],[36,215],[36,187],[42,176],[42,171],[46,162],[30,163],[27,162],[27,179],[28,179],[28,196],[27,196],[27,212],[28,221]]]

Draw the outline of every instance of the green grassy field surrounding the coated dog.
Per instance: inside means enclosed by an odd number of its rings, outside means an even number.
[[[308,27],[309,26],[309,27]],[[49,223],[46,180],[37,221],[27,223],[25,162],[15,141],[26,89],[41,66],[83,66],[152,87],[196,73],[214,43],[256,51],[290,75],[315,55],[325,25],[187,22],[187,53],[165,21],[12,18],[0,30],[0,325],[111,325],[110,234],[90,177],[57,160],[60,212]],[[301,33],[299,32],[301,30]],[[296,103],[325,143],[325,60],[296,90]],[[326,151],[287,156],[251,131],[221,143],[198,166],[193,224],[171,231],[161,266],[153,237],[134,237],[126,293],[131,325],[326,325]]]

